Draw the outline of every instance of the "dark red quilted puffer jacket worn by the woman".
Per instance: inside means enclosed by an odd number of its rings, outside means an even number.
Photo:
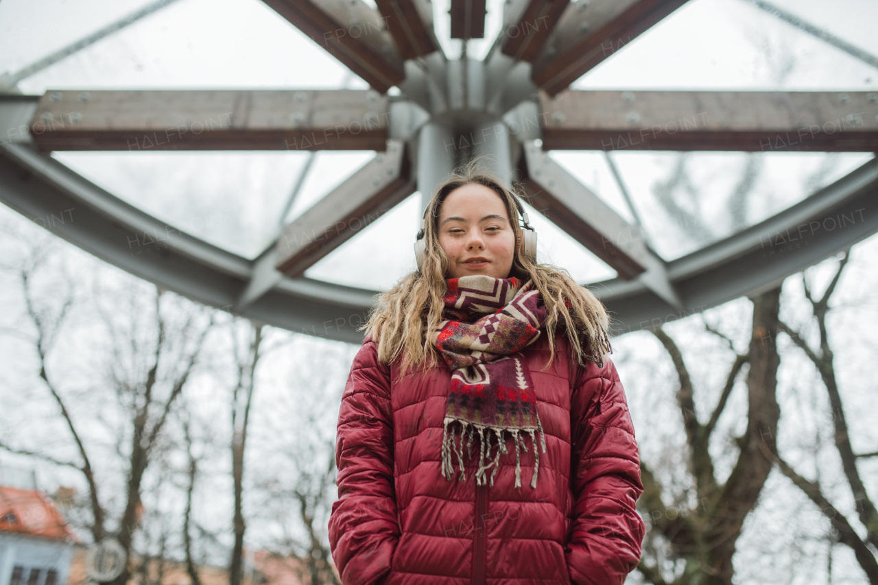
[[[545,372],[546,336],[522,355],[545,433],[536,489],[530,446],[515,488],[511,438],[493,486],[477,486],[477,449],[465,459],[465,481],[457,463],[451,480],[441,472],[447,365],[394,383],[399,361],[380,364],[366,336],[342,394],[335,449],[329,543],[344,585],[611,585],[637,566],[644,488],[615,365],[580,366],[563,334]]]

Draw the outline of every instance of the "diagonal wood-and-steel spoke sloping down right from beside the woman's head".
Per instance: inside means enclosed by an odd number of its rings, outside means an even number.
[[[620,278],[639,278],[668,304],[682,308],[667,278],[665,261],[644,242],[640,230],[551,160],[535,141],[525,141],[523,148],[519,173],[531,205],[611,266]]]

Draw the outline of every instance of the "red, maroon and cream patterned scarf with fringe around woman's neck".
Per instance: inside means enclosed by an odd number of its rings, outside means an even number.
[[[486,472],[499,468],[500,453],[506,453],[503,431],[515,440],[515,488],[522,486],[519,449],[524,446],[523,433],[529,433],[536,454],[534,479],[536,488],[540,455],[536,449],[535,432],[541,434],[540,444],[546,452],[543,424],[536,413],[536,393],[521,350],[534,343],[546,318],[540,292],[532,280],[522,285],[518,278],[493,278],[469,275],[449,278],[443,318],[433,333],[433,343],[442,353],[451,370],[451,390],[445,408],[442,473],[451,479],[454,466],[451,451],[457,453],[460,480],[464,475],[464,436],[469,432],[467,454],[473,434],[479,432],[479,469],[477,485],[486,483]],[[476,321],[473,322],[473,320]],[[451,423],[462,428],[460,445],[450,430]],[[491,458],[493,438],[497,454]],[[489,463],[486,464],[486,460]]]

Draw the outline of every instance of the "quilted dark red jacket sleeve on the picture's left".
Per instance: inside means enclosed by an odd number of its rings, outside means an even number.
[[[335,440],[338,500],[329,546],[344,585],[385,580],[399,542],[390,371],[366,336],[342,394]]]

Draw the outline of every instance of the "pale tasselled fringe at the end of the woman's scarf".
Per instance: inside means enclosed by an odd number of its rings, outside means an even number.
[[[460,445],[457,445],[457,433],[451,429],[451,423],[461,423],[463,430],[459,433]],[[484,486],[489,484],[493,486],[494,475],[500,469],[500,454],[509,452],[506,447],[506,439],[503,437],[504,431],[512,435],[515,441],[515,488],[522,487],[522,459],[521,451],[528,451],[527,445],[524,444],[524,437],[520,433],[526,432],[530,435],[530,443],[534,445],[534,454],[536,461],[534,463],[534,478],[530,481],[530,488],[536,489],[536,478],[539,474],[540,451],[546,452],[546,438],[543,432],[543,423],[540,417],[536,415],[536,429],[505,429],[501,427],[491,427],[482,424],[469,423],[467,421],[459,421],[450,416],[446,416],[443,422],[443,441],[442,441],[442,474],[446,480],[451,480],[454,475],[454,463],[452,461],[452,451],[457,454],[457,463],[460,469],[458,481],[465,481],[464,473],[464,437],[469,432],[469,440],[466,444],[466,452],[469,459],[473,459],[470,445],[472,436],[479,431],[479,467],[476,470],[476,485]],[[536,433],[540,435],[540,449],[536,448]],[[491,456],[493,449],[492,437],[497,439],[497,453]],[[490,462],[486,464],[486,459]],[[491,477],[487,477],[487,472],[493,467]]]

